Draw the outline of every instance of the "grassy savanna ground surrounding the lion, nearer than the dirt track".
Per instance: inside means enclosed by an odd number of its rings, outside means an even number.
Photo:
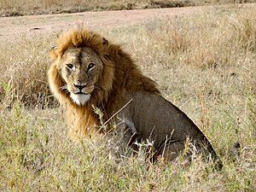
[[[256,5],[93,27],[124,44],[163,96],[195,121],[223,170],[212,171],[212,162],[200,158],[189,166],[179,160],[152,165],[144,160],[148,143],[138,146],[136,157],[117,162],[108,158],[111,143],[101,137],[73,142],[46,79],[55,32],[9,40],[3,34],[0,191],[255,191]],[[239,156],[231,150],[236,141]]]

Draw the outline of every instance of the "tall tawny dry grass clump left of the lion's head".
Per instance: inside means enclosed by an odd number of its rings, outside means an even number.
[[[20,101],[30,107],[43,107],[52,102],[46,78],[49,67],[49,39],[34,37],[12,44],[0,45],[2,58],[1,78],[3,104],[9,107]],[[1,98],[0,97],[0,98]]]

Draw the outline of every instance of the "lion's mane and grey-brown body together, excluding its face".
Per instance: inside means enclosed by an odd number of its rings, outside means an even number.
[[[144,140],[151,137],[160,153],[163,152],[166,139],[170,146],[177,148],[176,142],[184,143],[189,137],[192,143],[205,143],[206,153],[216,156],[211,144],[197,126],[171,102],[160,96],[154,81],[143,75],[119,44],[110,43],[84,27],[62,33],[56,44],[57,48],[51,52],[55,61],[49,68],[49,86],[66,108],[67,124],[73,132],[87,135],[99,131],[101,122],[92,106],[100,108],[104,114],[103,120],[107,121],[127,102],[131,102],[119,113],[120,122],[131,129],[128,137],[138,135]],[[82,106],[73,103],[67,91],[60,89],[65,82],[58,71],[58,64],[69,47],[93,49],[104,66],[98,82],[101,89],[93,91],[90,100]],[[173,142],[175,145],[172,145]],[[182,148],[177,150],[181,151]]]

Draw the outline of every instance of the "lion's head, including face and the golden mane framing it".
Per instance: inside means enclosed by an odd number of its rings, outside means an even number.
[[[96,93],[112,90],[113,63],[108,57],[108,41],[83,27],[64,32],[50,55],[49,85],[58,100],[82,106],[97,100]]]

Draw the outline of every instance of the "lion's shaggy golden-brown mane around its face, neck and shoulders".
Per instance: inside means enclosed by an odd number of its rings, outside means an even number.
[[[71,126],[72,131],[82,135],[98,131],[100,120],[92,106],[102,110],[103,120],[106,121],[119,110],[117,106],[122,100],[120,93],[124,91],[140,90],[160,94],[154,81],[141,73],[132,61],[131,55],[125,53],[119,44],[108,42],[96,32],[91,32],[84,27],[76,27],[63,32],[57,38],[56,45],[57,47],[50,52],[54,62],[49,68],[49,86],[61,105],[66,108],[67,124]],[[104,66],[102,77],[98,82],[100,89],[94,90],[90,101],[83,106],[74,104],[68,93],[60,89],[65,82],[58,71],[58,62],[70,47],[94,49]]]

